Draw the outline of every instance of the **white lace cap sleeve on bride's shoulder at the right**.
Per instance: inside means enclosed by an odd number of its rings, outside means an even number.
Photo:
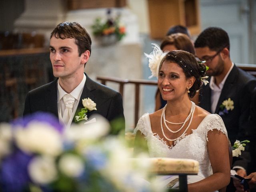
[[[206,140],[208,141],[208,131],[213,131],[214,129],[221,131],[223,134],[226,135],[226,137],[228,137],[228,133],[222,118],[218,114],[211,114],[210,116],[211,117],[206,121],[206,126],[204,129],[204,135],[206,136]]]

